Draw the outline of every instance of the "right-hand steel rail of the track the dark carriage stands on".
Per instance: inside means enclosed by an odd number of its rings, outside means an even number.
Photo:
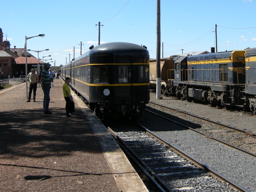
[[[139,123],[137,123],[138,125],[140,125]],[[214,169],[212,169],[211,167],[207,166],[206,164],[203,164],[202,162],[198,161],[197,159],[195,159],[194,157],[188,155],[187,153],[185,153],[184,151],[180,150],[179,148],[175,147],[174,145],[172,145],[171,143],[169,143],[168,141],[162,139],[161,137],[159,137],[158,135],[156,135],[155,133],[151,132],[150,130],[148,130],[147,128],[143,127],[142,125],[140,125],[148,134],[150,134],[151,136],[157,138],[158,140],[160,140],[161,142],[163,142],[165,145],[167,145],[169,148],[171,148],[172,150],[174,150],[176,153],[180,154],[181,156],[183,156],[184,158],[188,158],[190,161],[194,162],[198,167],[210,172],[214,177],[218,178],[219,180],[222,180],[224,182],[227,182],[230,184],[231,187],[237,189],[238,191],[241,192],[250,192],[247,189],[243,188],[242,186],[238,185],[236,182],[228,179],[227,177],[225,177],[224,175],[220,174],[219,172],[216,172]]]

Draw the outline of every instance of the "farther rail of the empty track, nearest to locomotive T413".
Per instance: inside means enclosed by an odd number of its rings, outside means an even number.
[[[151,101],[149,101],[149,103],[154,104],[154,105],[157,105],[157,106],[160,106],[160,107],[163,107],[163,108],[167,108],[167,109],[170,109],[170,110],[179,112],[179,113],[183,113],[183,114],[186,114],[186,115],[189,115],[189,116],[193,116],[193,117],[196,117],[196,118],[198,118],[198,119],[202,119],[202,120],[204,120],[204,121],[208,121],[208,122],[211,122],[211,123],[220,125],[221,127],[224,127],[224,128],[234,129],[234,130],[236,130],[236,131],[243,132],[245,135],[250,135],[250,136],[253,136],[253,137],[256,136],[255,133],[247,132],[247,131],[244,131],[244,130],[241,130],[241,129],[238,129],[238,128],[235,128],[235,127],[231,127],[231,126],[228,126],[228,125],[225,125],[225,124],[221,124],[221,123],[218,123],[218,122],[209,120],[209,119],[205,119],[205,118],[203,118],[203,117],[199,117],[199,116],[196,116],[196,115],[189,114],[189,113],[184,112],[184,111],[180,111],[180,110],[177,110],[177,109],[169,108],[169,107],[166,107],[166,106],[163,106],[163,105],[160,105],[160,104],[151,102]],[[192,129],[192,128],[191,128],[191,129]]]

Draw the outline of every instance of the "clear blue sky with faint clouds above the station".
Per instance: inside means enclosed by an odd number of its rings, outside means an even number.
[[[157,0],[5,0],[0,28],[11,48],[39,52],[51,64],[66,65],[100,44],[129,42],[145,45],[156,58]],[[218,52],[256,47],[256,0],[161,0],[161,58],[182,52]],[[162,44],[164,45],[162,47]],[[75,48],[74,48],[75,47]],[[164,50],[164,52],[162,52]],[[37,52],[30,51],[37,58]],[[70,60],[69,60],[70,58]],[[48,62],[47,61],[47,62]]]

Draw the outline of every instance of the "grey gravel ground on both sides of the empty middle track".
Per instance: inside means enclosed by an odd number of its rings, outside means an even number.
[[[255,131],[255,116],[241,112],[227,111],[217,109],[188,101],[173,100],[163,97],[162,100],[156,99],[156,95],[151,93],[152,102],[186,111],[197,116],[207,117],[213,121],[228,124],[240,129],[247,129],[249,132]],[[151,106],[152,107],[152,106]],[[179,127],[163,119],[147,113],[147,121],[143,123],[147,128],[155,132],[160,137],[169,141],[189,155],[195,157],[204,164],[212,167],[224,176],[233,180],[249,191],[256,191],[256,158],[246,155],[243,152],[226,147],[214,140],[207,139],[204,136]],[[158,121],[159,122],[156,122]]]

